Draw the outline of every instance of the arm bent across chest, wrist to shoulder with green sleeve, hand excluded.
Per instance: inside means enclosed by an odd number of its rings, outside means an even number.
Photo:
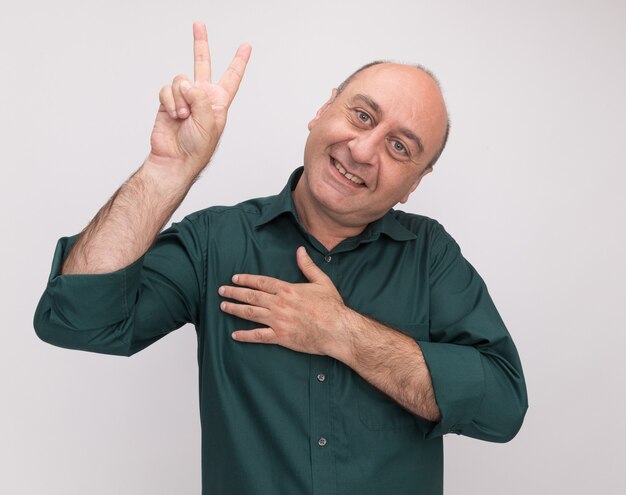
[[[457,433],[507,442],[528,408],[517,349],[458,245],[442,228],[433,244],[430,338],[416,341],[352,311],[346,319],[349,345],[338,346],[333,357],[436,423],[429,438]]]

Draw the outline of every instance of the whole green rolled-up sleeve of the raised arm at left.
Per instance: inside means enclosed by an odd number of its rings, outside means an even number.
[[[131,265],[105,274],[60,275],[78,236],[57,242],[34,317],[37,335],[70,349],[130,356],[185,323],[198,321],[205,242],[185,218]]]

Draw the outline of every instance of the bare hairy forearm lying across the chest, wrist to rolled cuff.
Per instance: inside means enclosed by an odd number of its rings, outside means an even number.
[[[439,407],[419,344],[353,311],[346,323],[348,339],[331,351],[333,357],[413,414],[438,422]]]

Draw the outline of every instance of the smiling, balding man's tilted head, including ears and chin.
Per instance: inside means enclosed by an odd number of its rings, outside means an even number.
[[[447,114],[436,83],[396,64],[358,73],[309,123],[296,205],[364,227],[404,203],[441,146]]]

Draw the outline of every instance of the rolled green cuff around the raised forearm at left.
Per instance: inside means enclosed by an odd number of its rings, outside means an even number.
[[[89,330],[126,319],[135,304],[143,257],[112,273],[60,275],[77,239],[74,235],[57,242],[47,287],[50,320]]]

